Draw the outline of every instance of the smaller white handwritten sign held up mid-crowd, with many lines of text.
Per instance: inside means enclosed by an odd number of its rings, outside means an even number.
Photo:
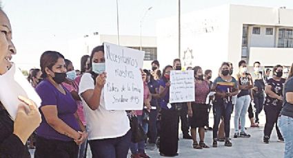
[[[194,102],[194,71],[170,71],[170,103]]]

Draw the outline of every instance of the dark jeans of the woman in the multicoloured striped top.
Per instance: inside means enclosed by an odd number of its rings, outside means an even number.
[[[218,137],[219,124],[221,117],[224,119],[225,126],[225,137],[230,137],[230,119],[232,114],[233,104],[232,102],[225,103],[223,100],[216,100],[214,102],[214,128],[213,128],[213,138]]]

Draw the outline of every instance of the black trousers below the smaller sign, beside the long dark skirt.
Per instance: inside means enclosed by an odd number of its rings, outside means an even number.
[[[183,136],[189,135],[190,125],[188,124],[188,105],[186,102],[178,104],[182,104],[182,109],[180,111],[181,131]]]

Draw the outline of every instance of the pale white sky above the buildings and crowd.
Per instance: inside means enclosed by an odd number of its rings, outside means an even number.
[[[17,48],[14,62],[38,67],[46,50],[68,52],[68,41],[85,34],[117,34],[116,0],[0,0],[12,25]],[[178,0],[118,0],[119,32],[123,35],[156,36],[156,21],[176,16]],[[265,7],[286,6],[292,0],[181,0],[181,12],[192,12],[227,3]],[[66,56],[65,56],[66,58]]]

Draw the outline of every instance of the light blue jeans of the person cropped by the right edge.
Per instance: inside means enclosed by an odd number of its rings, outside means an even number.
[[[293,118],[281,115],[278,120],[279,128],[285,140],[284,158],[293,157]]]

